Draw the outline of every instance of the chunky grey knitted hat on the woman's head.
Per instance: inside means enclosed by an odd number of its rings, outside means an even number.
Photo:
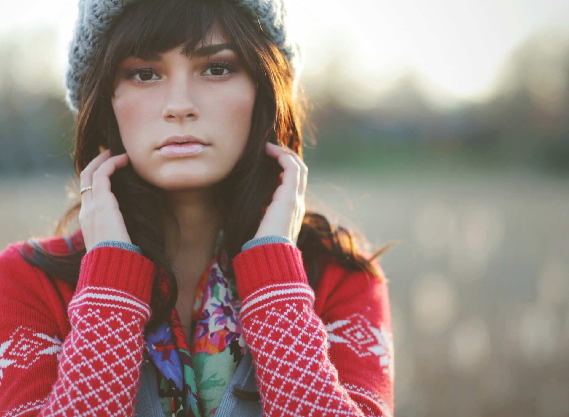
[[[105,43],[110,28],[125,8],[140,0],[79,0],[79,15],[69,48],[67,102],[74,112],[79,108],[85,79],[98,50]],[[159,1],[159,0],[157,0]],[[232,0],[236,6],[256,16],[263,31],[273,39],[299,72],[298,46],[291,42],[286,28],[286,10],[282,0]]]

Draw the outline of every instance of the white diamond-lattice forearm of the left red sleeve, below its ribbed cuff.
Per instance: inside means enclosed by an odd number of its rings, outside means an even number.
[[[57,382],[40,415],[130,415],[149,315],[148,305],[122,291],[88,287],[76,294]]]

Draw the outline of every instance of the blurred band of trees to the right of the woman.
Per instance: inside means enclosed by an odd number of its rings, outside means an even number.
[[[368,109],[347,105],[334,86],[320,87],[311,114],[318,146],[307,155],[313,164],[351,160],[366,168],[569,168],[568,86],[569,35],[546,32],[512,53],[484,102],[441,108],[413,75]]]

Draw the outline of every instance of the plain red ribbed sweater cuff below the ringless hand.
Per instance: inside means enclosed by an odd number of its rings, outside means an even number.
[[[251,247],[233,259],[237,292],[241,300],[269,284],[299,282],[308,284],[298,247],[288,243],[269,243]]]

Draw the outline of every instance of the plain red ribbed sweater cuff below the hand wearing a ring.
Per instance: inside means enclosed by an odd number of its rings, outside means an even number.
[[[156,266],[150,259],[118,247],[96,247],[81,260],[77,290],[87,286],[122,290],[149,304]]]

